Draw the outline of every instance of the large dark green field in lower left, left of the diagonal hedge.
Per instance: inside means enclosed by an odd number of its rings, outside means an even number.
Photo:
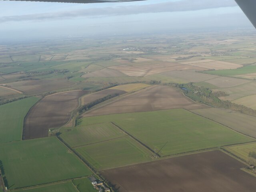
[[[55,137],[0,144],[0,160],[10,189],[91,174]]]

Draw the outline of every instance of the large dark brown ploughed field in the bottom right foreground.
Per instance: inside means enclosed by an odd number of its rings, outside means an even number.
[[[158,160],[100,173],[118,192],[252,192],[256,178],[220,151]]]

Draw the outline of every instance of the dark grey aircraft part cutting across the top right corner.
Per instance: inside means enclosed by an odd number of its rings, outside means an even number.
[[[256,28],[256,0],[235,0]]]

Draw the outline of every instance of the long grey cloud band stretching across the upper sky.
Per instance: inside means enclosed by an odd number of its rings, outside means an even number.
[[[142,13],[184,12],[237,6],[234,0],[179,0],[146,5],[116,6],[105,8],[88,8],[63,12],[49,12],[40,14],[14,15],[0,17],[0,23],[10,21],[43,21],[70,19],[77,17],[105,17],[122,16]]]

